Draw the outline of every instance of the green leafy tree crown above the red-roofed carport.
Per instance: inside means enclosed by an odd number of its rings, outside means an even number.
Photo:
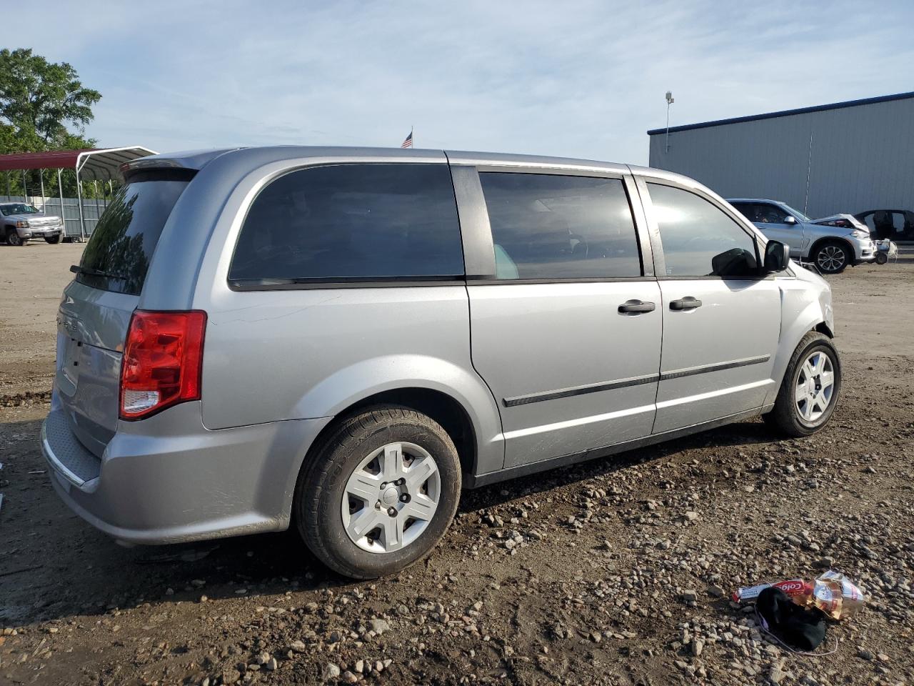
[[[67,123],[81,138],[100,100],[101,93],[83,86],[69,63],[48,62],[31,48],[0,50],[0,118],[22,143],[37,136],[45,149],[62,146],[74,136]]]

